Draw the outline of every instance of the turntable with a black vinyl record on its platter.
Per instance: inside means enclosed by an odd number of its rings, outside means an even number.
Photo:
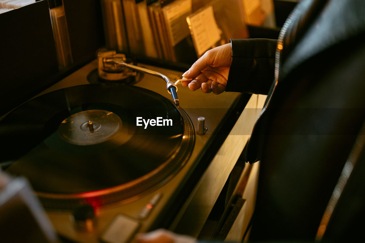
[[[173,84],[181,77],[138,66]],[[98,67],[87,64],[0,121],[5,172],[30,181],[62,239],[132,242],[159,227],[197,236],[264,97],[177,85],[178,106],[177,87],[165,80],[166,92],[156,75],[95,82]]]

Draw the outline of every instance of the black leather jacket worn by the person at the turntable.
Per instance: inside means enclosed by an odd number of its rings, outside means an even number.
[[[246,151],[261,160],[251,240],[314,239],[365,119],[364,37],[365,1],[302,0],[279,40],[232,40],[226,91],[268,94]],[[360,234],[359,188],[324,239]]]

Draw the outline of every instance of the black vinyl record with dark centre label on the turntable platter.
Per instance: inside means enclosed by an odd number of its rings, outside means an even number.
[[[51,208],[103,205],[161,185],[184,165],[195,141],[181,108],[150,90],[117,84],[36,97],[0,128],[5,171],[28,178]]]

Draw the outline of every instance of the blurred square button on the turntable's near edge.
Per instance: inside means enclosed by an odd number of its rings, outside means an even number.
[[[101,241],[108,243],[124,243],[131,240],[139,227],[136,220],[118,215],[101,236]]]

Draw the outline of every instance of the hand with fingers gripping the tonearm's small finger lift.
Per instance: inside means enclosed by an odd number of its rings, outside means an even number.
[[[189,86],[193,91],[201,88],[204,93],[222,93],[227,85],[232,62],[231,52],[231,43],[208,50],[183,74],[184,78],[193,80],[182,81],[181,84]]]

